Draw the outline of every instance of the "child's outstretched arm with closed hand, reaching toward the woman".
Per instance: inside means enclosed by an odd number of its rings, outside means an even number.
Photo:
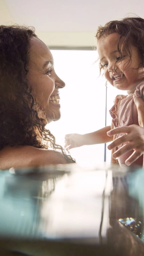
[[[84,145],[100,144],[112,141],[113,137],[109,137],[107,132],[111,129],[111,126],[106,126],[98,131],[78,134],[71,133],[65,136],[65,147],[68,149],[77,148]]]

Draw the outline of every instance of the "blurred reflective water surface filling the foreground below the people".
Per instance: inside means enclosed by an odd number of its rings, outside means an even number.
[[[0,171],[0,255],[144,255],[144,170]]]

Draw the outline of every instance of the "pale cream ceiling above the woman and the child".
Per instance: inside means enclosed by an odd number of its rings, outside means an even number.
[[[92,48],[99,25],[136,14],[143,0],[0,0],[0,23],[33,26],[50,48]]]

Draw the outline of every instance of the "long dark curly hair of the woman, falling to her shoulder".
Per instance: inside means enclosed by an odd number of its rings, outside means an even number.
[[[62,152],[68,162],[75,162],[45,128],[46,117],[35,104],[26,78],[32,36],[37,37],[33,27],[0,26],[0,149],[14,145],[51,147]]]

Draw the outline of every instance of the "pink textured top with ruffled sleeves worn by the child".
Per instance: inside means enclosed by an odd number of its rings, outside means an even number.
[[[144,81],[137,85],[135,90],[136,97],[141,97],[144,90]],[[138,112],[136,105],[134,104],[133,95],[117,95],[114,100],[113,107],[109,110],[110,115],[112,116],[112,122],[114,127],[128,126],[131,124],[138,123]],[[122,134],[116,134],[116,138],[121,137]],[[115,148],[115,151],[121,148],[123,144]],[[132,154],[133,150],[120,156],[118,158],[118,163],[120,165],[125,164],[125,160]],[[143,165],[143,155],[140,156],[133,164]]]

